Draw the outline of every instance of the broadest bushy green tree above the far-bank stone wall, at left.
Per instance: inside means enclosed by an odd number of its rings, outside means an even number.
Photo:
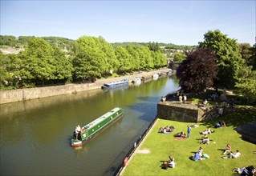
[[[63,51],[42,38],[32,38],[25,51],[18,54],[22,62],[19,75],[22,86],[44,85],[71,81],[71,62]]]

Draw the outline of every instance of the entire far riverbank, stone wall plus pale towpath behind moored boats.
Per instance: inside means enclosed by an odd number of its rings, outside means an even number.
[[[124,78],[127,78],[129,82],[136,77],[150,77],[153,74],[168,72],[170,69],[165,68],[161,70],[154,70],[150,72],[142,72],[140,74],[125,75],[116,78],[98,79],[93,83],[81,83],[81,84],[68,84],[63,86],[46,86],[46,87],[35,87],[20,90],[3,90],[0,92],[0,104],[9,102],[21,102],[30,99],[47,98],[51,96],[61,94],[76,94],[86,90],[100,89],[104,83],[117,82]]]

